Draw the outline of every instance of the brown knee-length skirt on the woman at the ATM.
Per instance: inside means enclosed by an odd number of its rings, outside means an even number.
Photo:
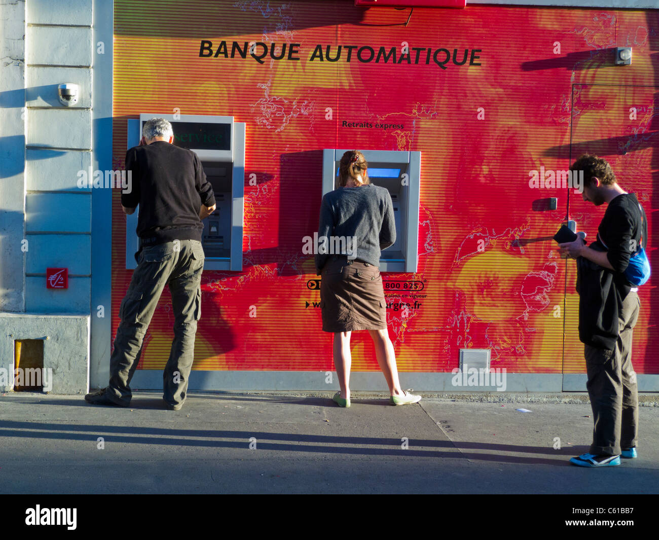
[[[332,256],[320,280],[324,332],[384,330],[387,311],[377,266]]]

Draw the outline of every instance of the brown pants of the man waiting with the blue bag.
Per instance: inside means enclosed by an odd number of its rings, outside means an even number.
[[[612,351],[585,345],[588,396],[594,429],[590,454],[617,456],[621,448],[637,446],[639,396],[631,365],[631,336],[641,303],[631,292],[618,314],[619,335]]]

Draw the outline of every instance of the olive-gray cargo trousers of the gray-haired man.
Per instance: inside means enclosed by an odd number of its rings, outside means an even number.
[[[121,323],[110,357],[106,392],[129,404],[130,380],[142,353],[142,342],[165,285],[171,291],[174,340],[163,372],[163,399],[171,405],[185,401],[194,357],[194,336],[201,316],[204,250],[199,241],[176,240],[144,247],[119,307]]]

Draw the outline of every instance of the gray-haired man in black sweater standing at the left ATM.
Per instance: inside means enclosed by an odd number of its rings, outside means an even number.
[[[174,146],[173,141],[171,124],[154,118],[144,123],[140,145],[126,154],[133,189],[121,194],[121,208],[132,214],[140,205],[140,251],[119,307],[121,323],[110,358],[109,385],[85,396],[92,404],[130,405],[130,379],[165,285],[171,291],[175,320],[174,340],[163,373],[163,399],[171,410],[181,409],[185,402],[201,315],[202,219],[214,212],[215,196],[198,156]]]

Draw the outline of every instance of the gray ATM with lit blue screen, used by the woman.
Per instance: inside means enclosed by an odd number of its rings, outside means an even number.
[[[323,195],[339,187],[339,163],[347,150],[323,150]],[[421,152],[362,150],[370,183],[389,190],[396,241],[382,251],[382,272],[416,272]]]

